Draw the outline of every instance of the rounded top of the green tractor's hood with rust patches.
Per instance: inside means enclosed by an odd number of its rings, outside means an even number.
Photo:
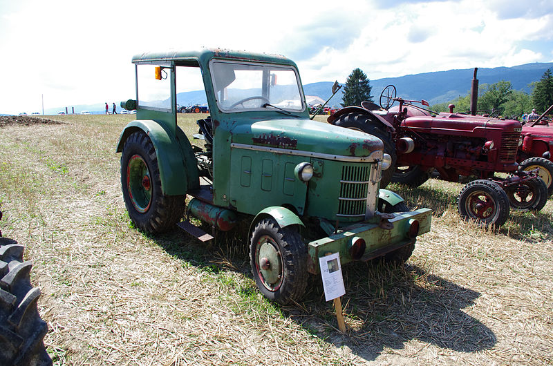
[[[372,135],[311,119],[268,119],[231,129],[232,143],[337,157],[382,157],[384,144]],[[376,154],[375,154],[376,153]]]

